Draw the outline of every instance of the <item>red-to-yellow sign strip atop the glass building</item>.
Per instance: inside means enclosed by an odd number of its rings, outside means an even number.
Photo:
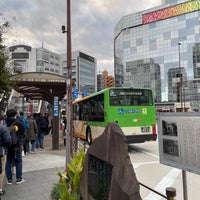
[[[148,24],[151,22],[156,22],[159,20],[167,19],[170,17],[175,17],[178,15],[190,13],[200,10],[200,1],[189,1],[179,5],[171,6],[169,8],[164,8],[161,10],[156,10],[142,16],[142,23]]]

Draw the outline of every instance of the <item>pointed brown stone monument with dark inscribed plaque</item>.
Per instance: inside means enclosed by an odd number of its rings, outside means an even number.
[[[126,137],[111,122],[87,151],[80,181],[82,200],[141,200]]]

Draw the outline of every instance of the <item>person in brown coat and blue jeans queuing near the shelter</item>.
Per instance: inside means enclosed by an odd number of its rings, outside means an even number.
[[[35,153],[36,137],[38,135],[38,128],[37,128],[35,118],[31,114],[28,115],[27,121],[29,123],[29,128],[27,129],[26,152],[27,153]],[[31,145],[31,148],[30,148],[30,145]]]

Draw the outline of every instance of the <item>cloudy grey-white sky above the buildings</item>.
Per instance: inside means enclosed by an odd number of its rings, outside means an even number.
[[[161,0],[71,0],[72,51],[97,59],[97,72],[113,75],[114,27],[121,17],[161,4]],[[12,24],[9,46],[24,44],[66,52],[66,0],[0,0],[0,14]],[[13,20],[14,19],[14,20]]]

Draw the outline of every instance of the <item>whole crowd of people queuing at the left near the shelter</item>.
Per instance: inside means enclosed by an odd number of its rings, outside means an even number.
[[[14,127],[17,142],[13,144],[10,127]],[[36,153],[36,149],[44,150],[44,136],[48,134],[49,115],[45,113],[18,113],[9,109],[6,115],[0,114],[0,196],[5,193],[3,180],[6,176],[7,184],[13,183],[13,169],[15,168],[15,182],[25,182],[22,177],[22,156]]]

